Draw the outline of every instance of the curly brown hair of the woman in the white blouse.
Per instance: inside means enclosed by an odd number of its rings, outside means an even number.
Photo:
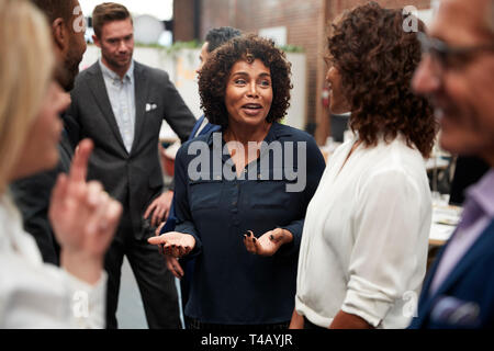
[[[412,91],[412,77],[420,61],[415,32],[405,32],[407,15],[375,2],[355,8],[333,25],[328,60],[341,75],[341,89],[351,107],[350,128],[367,146],[379,135],[393,140],[403,133],[429,157],[438,131],[428,101]],[[418,19],[418,31],[425,25]]]

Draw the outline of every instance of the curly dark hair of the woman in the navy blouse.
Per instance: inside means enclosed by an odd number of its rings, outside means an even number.
[[[239,60],[251,63],[255,59],[260,59],[271,71],[273,99],[266,121],[272,123],[284,117],[292,89],[291,64],[273,41],[247,34],[228,41],[211,53],[199,73],[201,109],[211,123],[224,128],[228,126],[225,91],[232,67]]]

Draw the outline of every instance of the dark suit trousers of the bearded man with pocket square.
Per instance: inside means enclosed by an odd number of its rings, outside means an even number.
[[[165,258],[156,246],[146,239],[136,239],[133,233],[128,205],[105,256],[108,273],[106,328],[116,329],[116,307],[119,305],[120,280],[124,254],[143,298],[146,320],[150,329],[180,329],[180,310],[175,276],[168,271]]]

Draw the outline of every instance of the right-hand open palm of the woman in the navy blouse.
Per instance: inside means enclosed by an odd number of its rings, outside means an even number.
[[[293,240],[293,234],[287,229],[276,228],[265,233],[259,238],[251,230],[244,235],[244,245],[250,253],[273,256],[283,245]]]

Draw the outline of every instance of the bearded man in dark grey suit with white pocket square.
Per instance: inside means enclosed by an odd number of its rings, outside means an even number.
[[[125,7],[102,3],[94,9],[92,21],[101,58],[77,78],[69,114],[78,124],[79,139],[94,141],[88,179],[101,181],[124,207],[105,258],[106,327],[117,327],[115,313],[125,254],[149,328],[179,328],[175,279],[146,239],[154,236],[153,226],[164,219],[167,203],[158,155],[162,120],[184,141],[195,118],[165,71],[133,60],[134,29]]]

